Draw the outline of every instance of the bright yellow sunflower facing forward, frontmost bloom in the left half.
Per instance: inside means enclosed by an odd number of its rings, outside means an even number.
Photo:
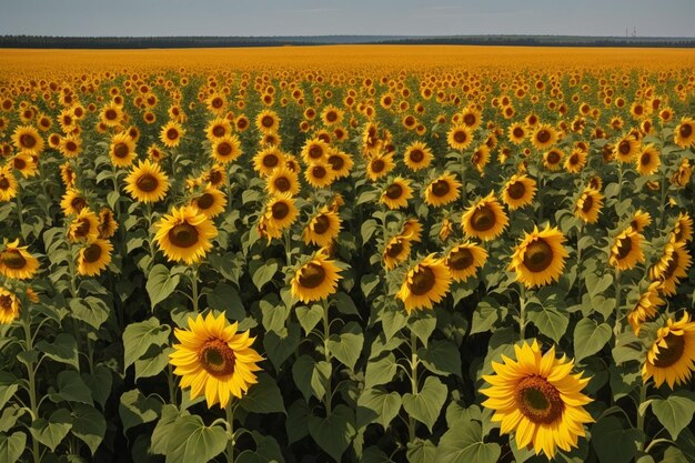
[[[191,387],[191,399],[204,395],[208,407],[215,403],[224,409],[233,395],[241,399],[258,383],[254,372],[263,358],[251,349],[255,338],[249,331],[236,332],[239,323],[229,324],[224,313],[216,319],[189,318],[189,329],[174,329],[181,344],[174,344],[169,363],[181,378],[181,387]]]

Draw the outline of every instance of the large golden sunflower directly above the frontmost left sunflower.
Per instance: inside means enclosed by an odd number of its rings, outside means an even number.
[[[154,240],[169,261],[191,265],[200,262],[212,249],[211,238],[218,235],[212,221],[195,207],[173,208],[154,225]]]

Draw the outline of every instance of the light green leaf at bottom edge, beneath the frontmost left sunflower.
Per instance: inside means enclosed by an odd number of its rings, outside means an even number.
[[[220,426],[205,426],[198,415],[179,416],[171,427],[167,463],[205,463],[222,453],[229,437]]]

